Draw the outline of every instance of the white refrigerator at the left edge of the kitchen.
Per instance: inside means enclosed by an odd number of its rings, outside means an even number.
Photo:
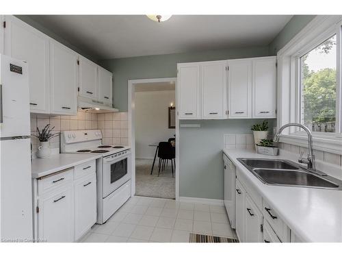
[[[27,63],[0,55],[0,239],[33,238]]]

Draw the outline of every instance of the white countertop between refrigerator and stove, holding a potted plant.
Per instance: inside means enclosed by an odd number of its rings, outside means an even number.
[[[55,154],[50,158],[32,160],[31,173],[32,178],[40,178],[44,175],[49,175],[62,169],[74,167],[83,162],[96,160],[101,158],[98,154]]]

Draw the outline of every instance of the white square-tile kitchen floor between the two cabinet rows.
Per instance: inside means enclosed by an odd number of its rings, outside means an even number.
[[[187,243],[191,232],[236,238],[223,206],[135,196],[81,242]]]

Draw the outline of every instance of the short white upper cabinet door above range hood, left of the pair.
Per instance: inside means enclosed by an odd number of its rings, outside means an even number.
[[[79,95],[97,100],[97,64],[79,56]]]

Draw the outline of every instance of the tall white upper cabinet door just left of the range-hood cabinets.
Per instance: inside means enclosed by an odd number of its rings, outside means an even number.
[[[55,40],[50,42],[51,113],[77,114],[77,54]]]

